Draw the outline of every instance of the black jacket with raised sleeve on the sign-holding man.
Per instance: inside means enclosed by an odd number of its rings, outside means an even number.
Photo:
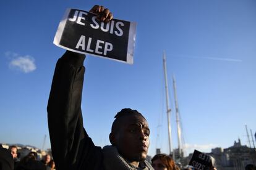
[[[100,169],[102,150],[83,129],[85,56],[67,51],[58,60],[47,106],[51,150],[58,169]]]

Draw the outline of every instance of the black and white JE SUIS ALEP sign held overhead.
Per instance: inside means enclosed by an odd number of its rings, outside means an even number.
[[[67,9],[53,43],[69,51],[132,64],[136,23],[113,19],[108,23],[79,9]]]

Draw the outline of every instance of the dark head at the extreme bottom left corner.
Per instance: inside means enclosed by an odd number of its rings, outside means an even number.
[[[14,169],[14,158],[6,148],[0,145],[0,170]]]

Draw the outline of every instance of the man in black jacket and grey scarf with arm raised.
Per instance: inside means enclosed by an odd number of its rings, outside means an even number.
[[[113,14],[103,6],[90,12],[109,22]],[[147,120],[129,108],[117,113],[109,140],[96,147],[83,129],[81,99],[85,56],[67,51],[58,60],[48,101],[48,126],[57,169],[153,169],[145,161],[150,130]]]

